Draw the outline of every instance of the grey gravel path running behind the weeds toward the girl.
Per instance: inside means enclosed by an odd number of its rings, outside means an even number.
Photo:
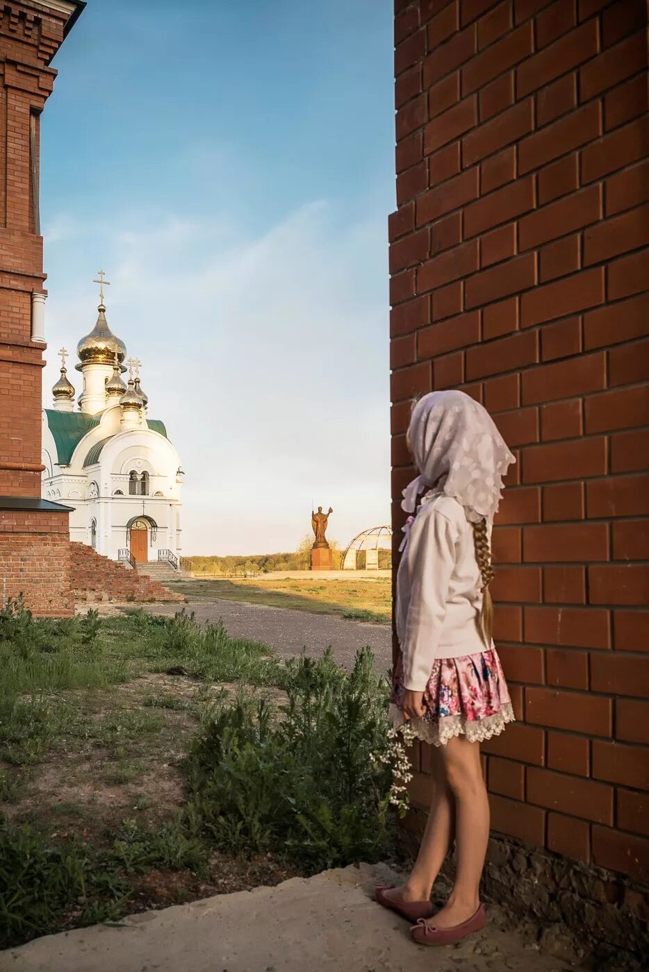
[[[132,608],[132,605],[128,607]],[[153,614],[169,616],[179,609],[174,604],[143,604],[141,607]],[[217,599],[206,601],[201,598],[191,602],[187,609],[195,611],[197,621],[222,618],[232,638],[270,644],[283,658],[299,655],[304,647],[307,654],[316,657],[331,645],[338,664],[349,668],[356,651],[369,644],[377,656],[379,672],[392,666],[392,634],[387,624],[347,621],[333,614],[309,614],[304,610]]]

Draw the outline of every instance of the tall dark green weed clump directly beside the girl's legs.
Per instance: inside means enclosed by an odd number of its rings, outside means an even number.
[[[349,675],[330,651],[286,666],[281,717],[239,692],[192,746],[188,811],[222,850],[281,852],[306,873],[376,860],[388,838],[392,768],[386,683],[369,648]]]

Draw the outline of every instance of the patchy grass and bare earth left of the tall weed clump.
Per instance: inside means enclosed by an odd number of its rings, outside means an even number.
[[[184,611],[36,621],[18,600],[0,609],[0,665],[0,947],[117,920],[147,869],[198,874],[208,847],[178,822],[182,759],[214,683],[285,677],[268,645]]]

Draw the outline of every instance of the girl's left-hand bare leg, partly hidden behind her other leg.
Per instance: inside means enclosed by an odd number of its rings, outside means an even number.
[[[427,901],[430,898],[435,879],[453,840],[453,798],[440,750],[433,746],[431,759],[435,788],[415,866],[405,885],[385,892],[396,901]]]

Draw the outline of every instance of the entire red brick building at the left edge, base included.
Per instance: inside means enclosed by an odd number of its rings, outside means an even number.
[[[41,500],[45,274],[39,120],[50,66],[85,3],[0,6],[0,600],[70,614],[67,507]]]

